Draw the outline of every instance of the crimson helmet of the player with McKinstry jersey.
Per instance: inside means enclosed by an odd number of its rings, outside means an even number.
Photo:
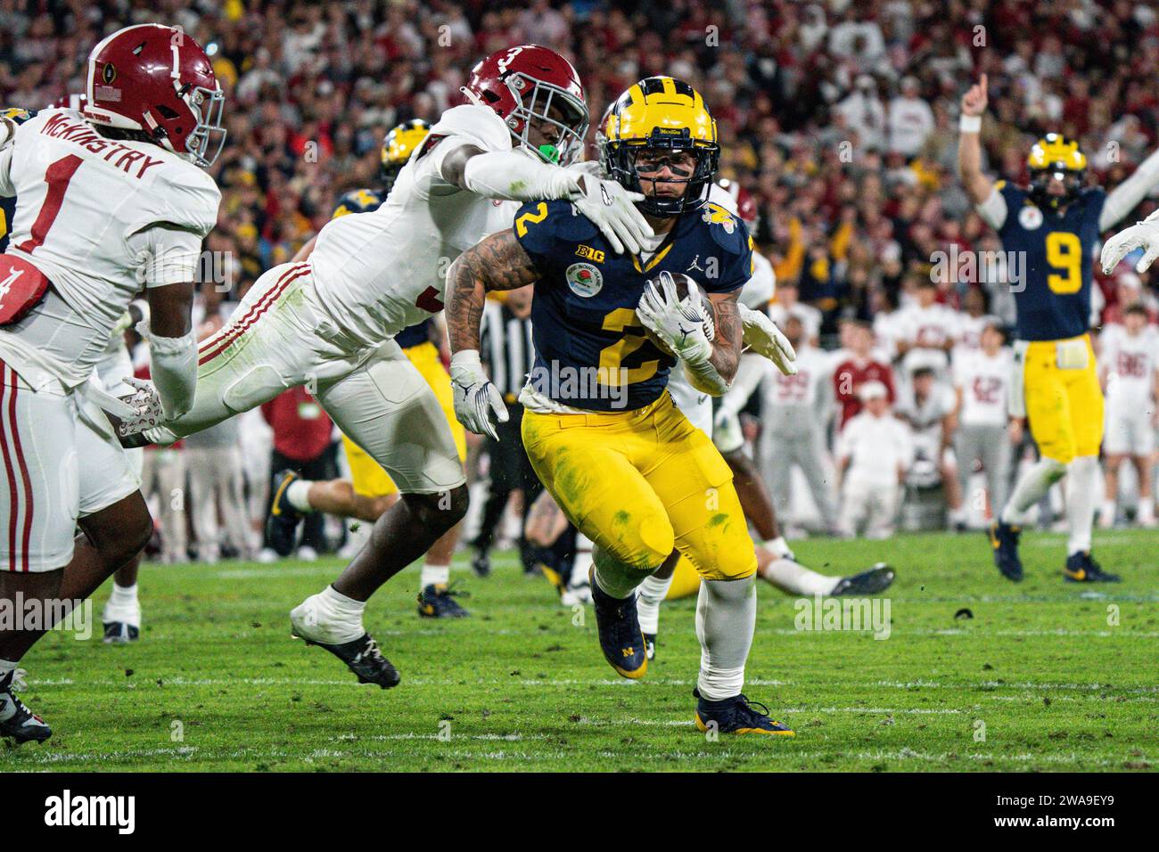
[[[225,145],[225,94],[205,51],[174,27],[117,30],[88,54],[85,117],[143,131],[175,154],[210,166]]]

